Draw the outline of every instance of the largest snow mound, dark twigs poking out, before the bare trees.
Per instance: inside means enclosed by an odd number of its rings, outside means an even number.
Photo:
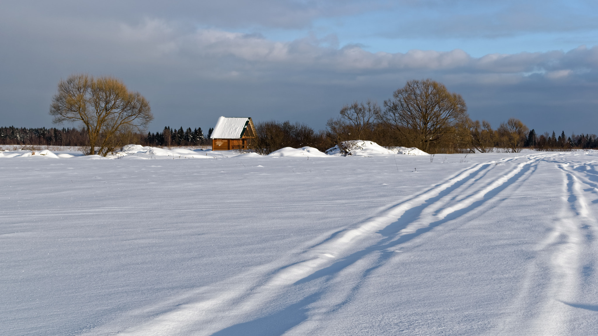
[[[429,155],[415,147],[391,147],[385,148],[376,142],[367,140],[349,140],[338,143],[328,148],[326,154],[335,156],[370,156],[375,154],[408,154],[408,155]]]

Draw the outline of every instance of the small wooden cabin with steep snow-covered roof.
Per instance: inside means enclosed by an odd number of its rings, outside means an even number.
[[[230,151],[249,149],[255,139],[255,126],[251,118],[220,117],[212,131],[212,150]]]

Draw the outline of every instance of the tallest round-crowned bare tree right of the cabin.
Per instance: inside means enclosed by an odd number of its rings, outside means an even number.
[[[423,151],[453,133],[457,123],[469,119],[463,97],[431,79],[408,81],[392,99],[385,100],[384,106],[379,119],[400,133],[410,133]]]

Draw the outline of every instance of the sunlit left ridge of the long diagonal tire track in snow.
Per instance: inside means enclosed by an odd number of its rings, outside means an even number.
[[[503,159],[507,161],[510,159]],[[213,316],[215,311],[222,320],[228,320],[230,317],[234,320],[235,316],[243,316],[246,314],[246,310],[251,310],[252,306],[260,306],[260,301],[263,301],[261,297],[267,294],[271,297],[276,297],[283,290],[285,285],[291,285],[292,283],[305,277],[310,271],[314,271],[315,268],[323,267],[325,264],[334,260],[334,255],[328,253],[327,247],[331,245],[343,244],[343,248],[348,248],[351,240],[355,240],[356,237],[363,236],[367,233],[374,233],[376,227],[381,225],[381,222],[395,221],[396,216],[399,212],[410,209],[414,205],[414,201],[423,203],[426,199],[437,196],[442,191],[462,181],[470,175],[477,173],[479,170],[489,167],[494,164],[495,161],[490,163],[476,164],[473,167],[463,170],[463,172],[457,173],[456,175],[449,178],[443,184],[437,187],[431,188],[431,190],[425,191],[424,193],[411,198],[411,200],[400,203],[389,210],[386,210],[377,217],[374,217],[368,221],[365,221],[358,228],[349,229],[337,232],[332,235],[330,239],[324,240],[324,242],[312,246],[307,251],[303,252],[303,256],[300,256],[299,261],[294,264],[286,265],[285,267],[278,267],[278,271],[274,271],[273,275],[267,282],[251,283],[246,280],[241,280],[244,277],[250,276],[244,274],[239,279],[231,279],[232,281],[225,281],[221,283],[219,288],[211,286],[206,292],[213,292],[215,295],[212,297],[205,298],[196,303],[186,304],[179,306],[179,308],[173,311],[167,311],[166,313],[160,314],[151,322],[141,325],[135,328],[130,328],[127,331],[122,332],[124,335],[173,335],[173,334],[184,334],[191,325],[195,325],[198,322],[204,323],[205,327],[202,328],[205,331],[203,334],[210,335],[222,328],[226,328],[232,323],[222,324],[216,321],[210,320],[210,315]],[[394,214],[394,215],[393,215]],[[324,250],[324,252],[322,252]],[[341,251],[337,251],[336,254]],[[251,270],[248,273],[252,274],[264,274],[269,273],[266,268],[260,270]],[[235,284],[241,283],[242,286],[236,286]],[[173,301],[177,301],[176,299]],[[151,310],[155,308],[151,307]],[[210,314],[211,313],[211,314]],[[90,333],[90,334],[93,334]]]

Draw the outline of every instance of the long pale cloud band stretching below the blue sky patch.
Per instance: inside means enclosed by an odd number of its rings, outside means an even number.
[[[269,68],[280,67],[285,72],[310,69],[359,75],[367,75],[368,72],[376,75],[379,71],[436,71],[439,74],[469,74],[487,81],[488,78],[504,78],[489,76],[491,74],[521,78],[540,74],[547,78],[560,78],[596,71],[598,68],[598,48],[584,46],[566,53],[522,52],[488,54],[483,57],[471,57],[459,49],[370,53],[358,45],[341,48],[321,46],[317,39],[310,37],[287,42],[217,29],[178,30],[176,26],[161,20],[145,20],[136,26],[121,25],[117,36],[130,45],[138,46],[136,48],[144,50],[146,54],[160,54],[170,62],[176,63],[183,58],[198,64],[217,61],[223,74],[242,72],[243,69],[237,69],[242,65],[242,68],[252,69],[252,72],[260,69],[269,72]]]

